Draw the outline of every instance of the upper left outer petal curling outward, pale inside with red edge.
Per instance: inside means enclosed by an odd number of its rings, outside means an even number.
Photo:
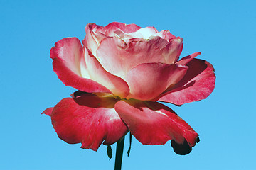
[[[87,75],[84,57],[84,50],[78,38],[64,38],[55,43],[50,50],[50,57],[53,59],[53,70],[58,78],[66,86],[73,86],[75,89],[87,92],[106,92],[109,89],[98,84]]]

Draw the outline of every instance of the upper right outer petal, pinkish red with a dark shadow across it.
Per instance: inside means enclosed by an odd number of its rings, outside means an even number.
[[[205,60],[198,59],[191,60],[187,66],[188,71],[183,79],[156,100],[182,105],[200,101],[213,92],[216,78],[213,66]]]

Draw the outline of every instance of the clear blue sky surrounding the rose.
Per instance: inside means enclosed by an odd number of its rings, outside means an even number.
[[[106,147],[97,152],[58,139],[41,112],[68,97],[52,69],[50,48],[85,37],[87,23],[155,26],[184,39],[182,56],[215,67],[206,100],[168,105],[200,134],[191,154],[146,146],[135,138],[122,169],[255,169],[255,1],[0,1],[0,169],[114,169]],[[127,137],[128,138],[128,137]],[[129,147],[125,142],[125,151]],[[112,145],[113,154],[115,145]]]

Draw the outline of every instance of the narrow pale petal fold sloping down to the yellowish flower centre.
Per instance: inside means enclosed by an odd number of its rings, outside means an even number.
[[[107,87],[112,91],[114,96],[119,96],[120,98],[125,98],[129,94],[128,84],[120,77],[114,76],[107,72],[97,61],[97,59],[90,55],[85,49],[85,61],[87,64],[87,70],[89,72],[90,78],[103,86]]]

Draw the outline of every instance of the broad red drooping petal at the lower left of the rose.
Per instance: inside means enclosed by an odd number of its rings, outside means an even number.
[[[128,132],[114,110],[115,103],[114,98],[95,94],[63,98],[50,113],[53,128],[65,142],[81,142],[82,148],[97,151],[103,141],[104,145],[111,145]]]

